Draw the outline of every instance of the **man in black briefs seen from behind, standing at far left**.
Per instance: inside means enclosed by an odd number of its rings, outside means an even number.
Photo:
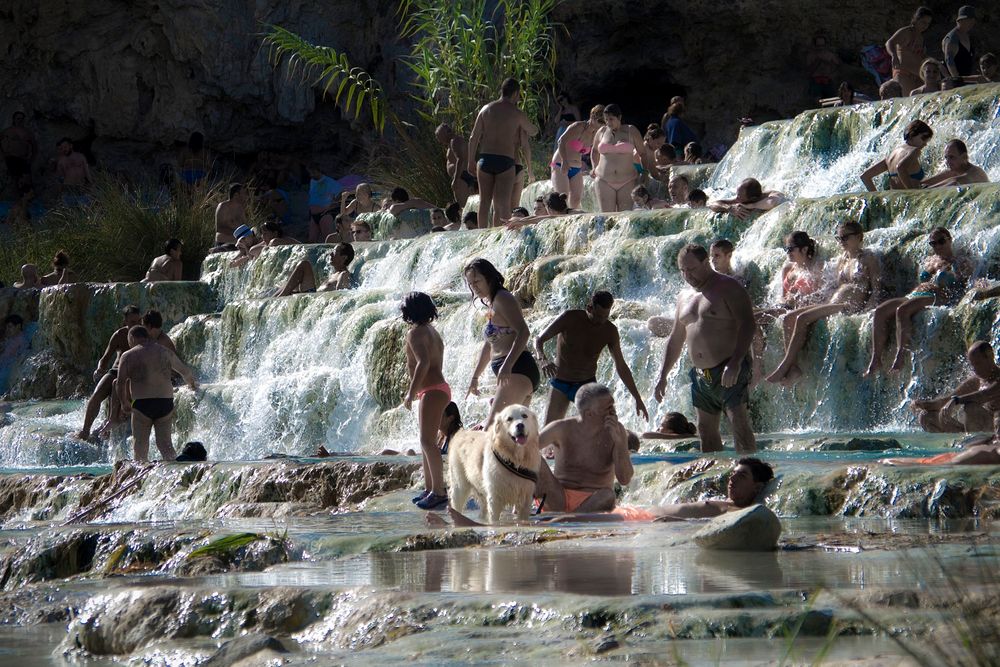
[[[174,422],[174,386],[171,371],[177,371],[192,391],[198,389],[191,370],[177,355],[155,344],[145,327],[128,332],[131,348],[118,363],[118,395],[125,414],[132,414],[132,444],[136,461],[149,460],[149,432],[156,431],[156,448],[164,461],[177,457],[171,443]]]

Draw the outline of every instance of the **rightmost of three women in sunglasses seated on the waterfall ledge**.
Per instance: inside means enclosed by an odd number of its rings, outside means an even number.
[[[952,306],[965,293],[973,266],[964,254],[955,252],[951,232],[935,227],[927,234],[931,254],[921,264],[920,282],[903,297],[879,304],[872,318],[872,356],[865,376],[878,372],[882,352],[889,342],[889,325],[896,323],[896,358],[890,372],[900,371],[910,344],[913,318],[931,306]]]

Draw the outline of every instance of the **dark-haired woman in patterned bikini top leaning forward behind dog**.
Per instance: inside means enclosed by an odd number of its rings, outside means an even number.
[[[524,321],[521,304],[504,287],[504,278],[496,267],[482,257],[469,262],[462,270],[473,299],[488,310],[483,329],[482,350],[469,382],[469,394],[479,395],[479,376],[489,365],[497,378],[497,393],[490,414],[483,422],[488,428],[493,417],[508,405],[531,405],[531,395],[541,381],[538,365],[527,350],[531,332]]]

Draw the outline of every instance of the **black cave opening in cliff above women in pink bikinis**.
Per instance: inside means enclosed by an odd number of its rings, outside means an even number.
[[[622,121],[635,125],[640,133],[650,123],[659,123],[674,95],[687,89],[670,81],[663,69],[618,70],[573,86],[570,94],[586,116],[595,104],[614,103],[622,108]],[[690,101],[689,101],[690,102]]]

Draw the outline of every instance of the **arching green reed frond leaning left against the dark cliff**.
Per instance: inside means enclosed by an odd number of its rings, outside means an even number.
[[[323,94],[337,86],[334,102],[355,118],[368,104],[372,124],[382,132],[385,129],[386,104],[382,84],[360,67],[353,67],[347,55],[328,46],[319,46],[280,26],[267,26],[264,45],[270,50],[274,65],[286,62],[286,75],[299,76],[310,85],[322,86]],[[287,60],[286,60],[287,58]],[[346,93],[346,96],[345,96]]]

